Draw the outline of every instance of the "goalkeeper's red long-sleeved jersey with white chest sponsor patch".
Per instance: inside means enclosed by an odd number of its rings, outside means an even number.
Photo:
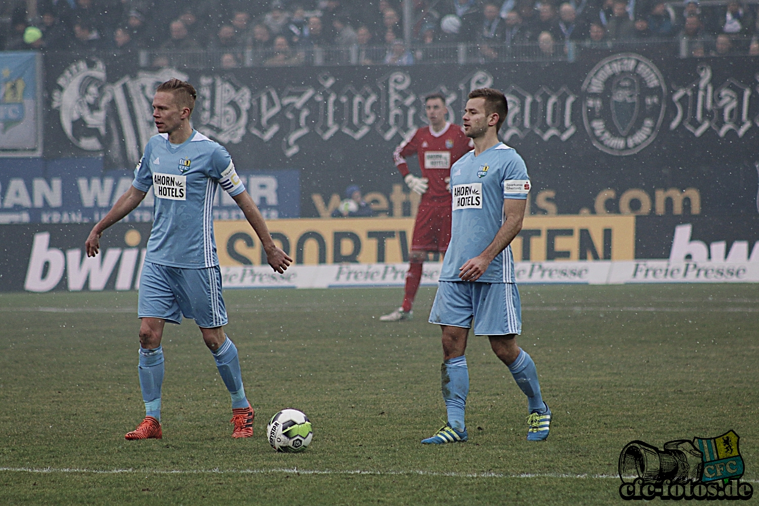
[[[405,158],[414,153],[419,157],[422,177],[430,181],[420,205],[450,206],[451,193],[446,190],[446,178],[451,175],[451,165],[472,149],[474,143],[465,136],[464,130],[458,124],[446,123],[439,132],[433,132],[432,127],[417,129],[395,148],[392,156],[404,178],[409,173]]]

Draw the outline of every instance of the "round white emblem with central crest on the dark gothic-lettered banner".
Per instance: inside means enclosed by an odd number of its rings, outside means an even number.
[[[587,74],[582,93],[585,130],[601,151],[633,155],[657,137],[666,86],[647,58],[634,53],[604,58]]]

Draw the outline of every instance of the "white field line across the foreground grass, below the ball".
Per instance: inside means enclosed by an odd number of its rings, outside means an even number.
[[[93,470],[93,469],[79,469],[79,468],[55,468],[55,467],[0,467],[0,472],[11,473],[71,473],[71,474],[298,474],[298,475],[310,475],[310,474],[335,474],[335,475],[364,475],[364,476],[443,476],[443,477],[455,477],[455,478],[557,478],[557,479],[619,479],[619,475],[616,474],[563,474],[563,473],[519,473],[519,474],[503,474],[503,473],[441,473],[438,471],[424,471],[424,470],[407,470],[407,471],[371,471],[371,470],[311,470],[311,469],[298,469],[293,467],[287,468],[275,468],[275,469],[230,469],[220,470],[218,467],[215,469],[191,469],[191,470],[140,470],[140,469],[112,469],[112,470]],[[625,476],[627,479],[635,478],[635,476]],[[757,479],[742,479],[743,482],[759,483]]]

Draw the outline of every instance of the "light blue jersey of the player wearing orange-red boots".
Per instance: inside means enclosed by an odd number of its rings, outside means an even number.
[[[230,196],[245,190],[224,146],[196,130],[179,146],[168,134],[150,138],[132,185],[153,188],[153,231],[146,262],[184,269],[219,265],[213,237],[213,196],[221,184]]]

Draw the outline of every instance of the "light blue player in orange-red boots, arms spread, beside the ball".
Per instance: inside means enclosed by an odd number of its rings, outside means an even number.
[[[213,197],[226,190],[261,240],[276,272],[292,259],[272,241],[266,222],[238,178],[229,153],[190,126],[197,93],[178,79],[162,83],[153,98],[159,134],[150,138],[134,171],[134,182],[87,237],[87,256],[96,256],[102,232],[128,215],[153,188],[153,230],[140,275],[140,388],[146,416],[127,439],[161,438],[161,385],[165,322],[192,318],[216,360],[231,396],[232,437],[253,435],[254,410],[245,396],[235,344],[224,332],[227,313],[213,237]]]

